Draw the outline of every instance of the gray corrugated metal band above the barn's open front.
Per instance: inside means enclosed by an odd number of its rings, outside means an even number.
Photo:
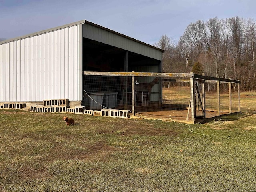
[[[85,38],[96,40],[98,42],[112,45],[157,60],[162,60],[162,52],[160,50],[156,50],[150,46],[146,46],[142,43],[130,40],[90,24],[83,24],[83,26]]]

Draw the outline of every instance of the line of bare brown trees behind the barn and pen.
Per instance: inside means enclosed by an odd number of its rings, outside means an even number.
[[[256,22],[232,17],[198,20],[176,43],[163,35],[154,44],[165,50],[163,72],[194,72],[241,80],[242,90],[255,90]]]

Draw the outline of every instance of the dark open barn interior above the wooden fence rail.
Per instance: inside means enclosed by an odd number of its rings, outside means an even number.
[[[160,61],[134,52],[126,51],[108,44],[84,38],[83,70],[84,71],[109,71],[131,72],[138,66],[160,66]],[[126,66],[127,54],[127,66]],[[160,67],[159,67],[160,69]],[[136,72],[149,72],[146,71]],[[159,71],[160,72],[160,71]]]

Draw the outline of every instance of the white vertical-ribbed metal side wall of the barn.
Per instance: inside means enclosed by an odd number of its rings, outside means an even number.
[[[81,100],[79,25],[0,45],[0,102]]]

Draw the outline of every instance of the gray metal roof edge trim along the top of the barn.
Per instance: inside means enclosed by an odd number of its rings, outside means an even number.
[[[122,37],[124,37],[124,38],[133,40],[133,41],[138,42],[138,43],[140,43],[140,44],[144,44],[144,45],[146,45],[146,46],[149,46],[149,47],[151,47],[151,48],[154,48],[154,49],[156,49],[156,50],[159,50],[159,51],[164,52],[164,50],[162,50],[162,49],[160,49],[160,48],[157,48],[157,47],[152,46],[152,45],[150,45],[150,44],[147,44],[147,43],[144,43],[144,42],[142,42],[142,41],[136,40],[136,39],[134,39],[134,38],[131,38],[131,37],[129,37],[129,36],[126,36],[126,35],[124,35],[124,34],[118,33],[118,32],[116,32],[116,31],[114,31],[114,30],[105,28],[105,27],[103,27],[103,26],[100,26],[100,25],[98,25],[98,24],[92,23],[92,22],[87,21],[87,20],[80,20],[80,21],[78,21],[78,22],[73,22],[73,23],[66,24],[66,25],[62,25],[62,26],[58,26],[58,27],[55,27],[55,28],[50,28],[50,29],[47,29],[47,30],[42,30],[42,31],[39,31],[39,32],[31,33],[31,34],[28,34],[28,35],[24,35],[24,36],[12,38],[12,39],[4,40],[4,41],[1,41],[0,44],[12,42],[12,41],[19,40],[19,39],[28,38],[28,37],[31,37],[31,36],[36,36],[36,35],[39,35],[39,34],[44,34],[44,33],[47,33],[47,32],[50,32],[50,31],[59,30],[59,29],[62,29],[62,28],[68,28],[68,27],[74,26],[74,25],[85,24],[85,23],[86,23],[86,24],[89,24],[89,25],[92,25],[92,26],[96,26],[96,27],[98,27],[98,28],[101,28],[101,29],[104,29],[104,30],[106,30],[106,31],[112,32],[112,33],[117,34],[117,35],[119,35],[119,36],[122,36]]]

